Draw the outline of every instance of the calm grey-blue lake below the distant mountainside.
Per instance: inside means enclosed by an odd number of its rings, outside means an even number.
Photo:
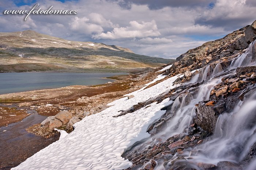
[[[59,88],[72,85],[93,85],[113,82],[103,79],[127,73],[8,72],[0,73],[0,94]]]

